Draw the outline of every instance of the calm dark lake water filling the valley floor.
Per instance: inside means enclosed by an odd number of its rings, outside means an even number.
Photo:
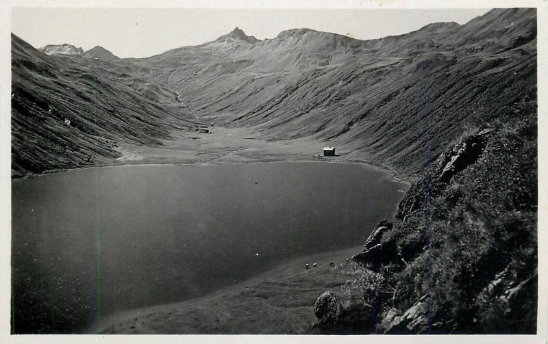
[[[356,246],[405,185],[344,163],[119,166],[12,182],[15,333],[80,332]],[[358,252],[356,252],[358,253]]]

